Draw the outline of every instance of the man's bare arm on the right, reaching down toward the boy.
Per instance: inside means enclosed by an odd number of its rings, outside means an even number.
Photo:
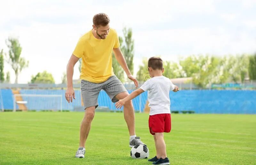
[[[117,62],[121,65],[121,67],[124,69],[124,72],[126,73],[127,77],[132,80],[136,86],[136,88],[138,88],[138,81],[135,77],[132,76],[128,66],[127,66],[127,63],[124,59],[124,55],[120,49],[120,47],[118,48],[113,48],[113,51],[114,51],[114,54],[115,54],[115,57],[116,57],[116,60]]]

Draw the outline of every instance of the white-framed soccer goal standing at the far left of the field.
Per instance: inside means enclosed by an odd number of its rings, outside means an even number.
[[[22,100],[18,100],[21,97]],[[32,102],[32,103],[31,103]],[[62,95],[52,94],[14,94],[13,112],[16,112],[16,104],[29,106],[33,110],[60,110],[62,112]],[[38,106],[38,107],[37,107]],[[45,109],[42,109],[45,108]],[[29,109],[28,109],[29,110]],[[31,110],[31,109],[30,109]]]

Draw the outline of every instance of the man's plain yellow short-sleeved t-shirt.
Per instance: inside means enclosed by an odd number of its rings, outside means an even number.
[[[92,30],[78,41],[73,54],[82,58],[80,79],[92,83],[102,83],[114,75],[112,50],[120,46],[116,30],[109,30],[106,39],[97,39]]]

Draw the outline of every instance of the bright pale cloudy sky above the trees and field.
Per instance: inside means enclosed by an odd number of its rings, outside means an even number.
[[[92,17],[100,12],[108,14],[118,35],[132,28],[134,75],[143,57],[178,61],[192,54],[256,52],[256,0],[0,0],[0,50],[7,53],[6,39],[16,37],[21,57],[29,60],[18,83],[44,70],[61,83],[79,37],[92,29]],[[14,83],[5,62],[7,71]],[[73,79],[78,78],[77,63]]]

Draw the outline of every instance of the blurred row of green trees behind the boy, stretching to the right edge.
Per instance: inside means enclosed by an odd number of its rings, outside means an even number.
[[[250,77],[253,77],[253,74],[256,73],[256,55],[223,57],[191,55],[180,58],[179,64],[164,61],[163,75],[168,78],[192,77],[192,82],[199,88],[211,87],[213,83],[243,83],[248,75],[251,74]],[[137,79],[142,82],[146,81],[149,78],[147,75],[148,60],[143,59],[142,65],[139,66]]]

